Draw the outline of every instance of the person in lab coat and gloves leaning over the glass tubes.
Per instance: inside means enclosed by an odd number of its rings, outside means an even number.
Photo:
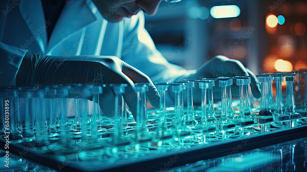
[[[131,95],[135,95],[137,82],[253,75],[239,61],[224,56],[212,58],[198,70],[167,62],[145,29],[144,12],[153,15],[160,3],[161,0],[2,0],[0,86],[106,84],[99,105],[110,115],[114,93],[109,84],[126,83],[124,98],[134,114],[136,99]],[[255,97],[260,97],[255,77],[251,89]],[[159,107],[159,93],[153,84],[146,97],[154,108]]]

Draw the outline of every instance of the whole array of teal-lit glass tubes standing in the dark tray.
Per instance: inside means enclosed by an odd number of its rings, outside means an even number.
[[[114,125],[111,128],[110,126],[103,127],[100,120],[99,95],[103,93],[105,85],[67,84],[49,85],[48,87],[5,87],[0,88],[1,116],[3,124],[5,124],[5,108],[7,106],[4,102],[9,100],[10,125],[0,127],[2,134],[10,132],[12,140],[18,142],[35,140],[41,145],[52,142],[68,143],[72,140],[79,143],[80,139],[103,139],[103,137],[110,135],[111,142],[115,145],[127,145],[133,140],[137,140],[138,143],[149,143],[156,140],[158,146],[164,145],[165,148],[206,143],[206,137],[213,138],[212,140],[215,138],[223,140],[231,135],[229,131],[237,129],[239,129],[240,135],[249,135],[255,131],[254,129],[261,132],[270,131],[271,123],[277,123],[283,127],[283,122],[288,121],[290,127],[294,126],[294,119],[302,118],[302,115],[295,111],[293,95],[295,76],[295,73],[258,75],[258,80],[261,83],[261,103],[257,113],[251,113],[252,102],[249,84],[251,84],[252,76],[155,83],[161,99],[160,109],[157,112],[158,120],[152,122],[148,120],[146,103],[146,91],[148,91],[150,84],[136,83],[138,102],[134,118],[137,123],[129,126],[127,119],[131,116],[131,112],[126,108],[126,102],[122,96],[127,85],[110,84],[115,94]],[[284,77],[287,83],[285,106],[283,106],[281,91],[281,82]],[[239,86],[238,116],[235,116],[232,107],[231,84],[233,84],[233,80]],[[272,94],[272,80],[276,82],[275,103]],[[219,119],[216,118],[213,100],[213,88],[216,86],[216,82],[221,88],[222,96]],[[196,83],[201,89],[200,112],[195,112],[193,107],[192,92],[194,89],[198,89],[195,88]],[[168,89],[171,89],[174,95],[173,111],[168,111],[165,105],[165,95]],[[187,108],[184,106],[184,90],[187,90]],[[21,99],[25,104],[25,109],[22,111],[24,115],[20,115],[21,111],[19,110]],[[68,99],[74,101],[74,118],[68,118]],[[88,100],[95,103],[89,107]],[[92,109],[92,114],[89,113],[89,109]],[[206,136],[214,131],[218,131],[220,136]],[[140,149],[140,145],[138,149]]]

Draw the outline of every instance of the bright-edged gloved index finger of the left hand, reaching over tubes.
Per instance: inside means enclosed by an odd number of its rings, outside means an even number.
[[[134,83],[150,83],[148,91],[146,92],[146,98],[153,108],[158,109],[160,105],[160,95],[157,88],[153,85],[148,76],[139,71],[138,69],[122,62],[122,73],[124,73]]]

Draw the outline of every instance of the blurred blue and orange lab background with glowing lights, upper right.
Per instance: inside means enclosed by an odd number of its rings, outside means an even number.
[[[162,1],[145,27],[164,57],[186,69],[224,55],[255,74],[292,71],[306,68],[306,9],[298,0]]]

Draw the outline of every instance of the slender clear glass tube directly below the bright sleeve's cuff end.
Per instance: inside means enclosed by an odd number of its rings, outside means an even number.
[[[195,87],[196,80],[183,80],[188,82],[185,84],[185,87],[188,88],[188,107],[187,107],[187,121],[192,121],[192,125],[196,125],[197,121],[195,119],[194,108],[193,108],[193,88]]]

